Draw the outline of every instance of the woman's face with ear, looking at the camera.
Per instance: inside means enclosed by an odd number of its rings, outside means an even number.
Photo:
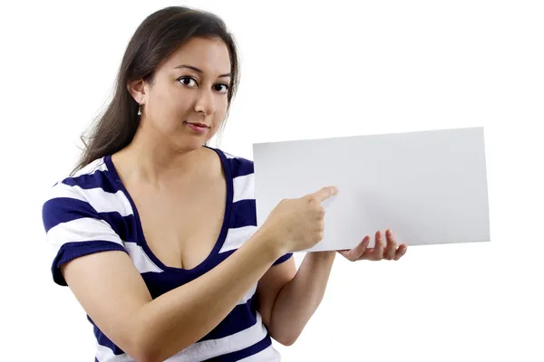
[[[225,119],[230,81],[227,45],[192,38],[160,64],[151,87],[143,86],[142,130],[175,149],[201,147]]]

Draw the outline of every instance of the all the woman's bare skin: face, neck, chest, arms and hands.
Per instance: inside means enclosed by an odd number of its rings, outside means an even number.
[[[219,157],[202,145],[225,119],[229,70],[224,43],[193,38],[160,64],[152,84],[127,84],[142,106],[141,127],[112,161],[141,214],[151,250],[169,266],[198,265],[219,234],[225,178]],[[209,129],[196,132],[187,122]],[[336,192],[325,187],[279,205],[225,262],[155,300],[124,252],[83,256],[61,271],[99,328],[138,360],[164,360],[196,342],[256,282],[257,310],[271,337],[291,345],[323,299],[336,253],[355,262],[399,260],[406,252],[390,231],[385,238],[377,232],[372,249],[366,236],[353,250],[307,253],[298,271],[293,258],[273,266],[286,252],[305,250],[320,240],[325,214],[320,203]],[[208,199],[203,202],[201,197]],[[237,283],[228,282],[232,280]]]

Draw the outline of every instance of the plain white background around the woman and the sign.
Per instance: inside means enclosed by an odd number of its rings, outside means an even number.
[[[132,32],[166,5],[180,3],[1,5],[2,360],[93,359],[90,323],[52,281],[43,195],[72,170]],[[238,40],[242,81],[220,144],[230,153],[485,127],[491,243],[413,247],[400,262],[337,255],[302,336],[277,345],[284,361],[544,360],[541,2],[184,5],[219,14]]]

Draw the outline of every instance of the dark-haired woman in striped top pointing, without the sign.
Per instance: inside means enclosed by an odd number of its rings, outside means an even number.
[[[253,163],[207,144],[238,84],[232,36],[183,7],[146,18],[78,167],[52,188],[44,227],[53,280],[92,322],[98,361],[277,361],[325,292],[323,237],[335,187],[284,200],[256,226]],[[390,231],[351,261],[398,260]]]

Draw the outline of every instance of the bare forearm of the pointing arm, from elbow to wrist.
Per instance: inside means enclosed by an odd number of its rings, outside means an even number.
[[[140,312],[140,348],[162,361],[204,337],[233,310],[282,251],[256,233],[216,268],[161,295]]]

